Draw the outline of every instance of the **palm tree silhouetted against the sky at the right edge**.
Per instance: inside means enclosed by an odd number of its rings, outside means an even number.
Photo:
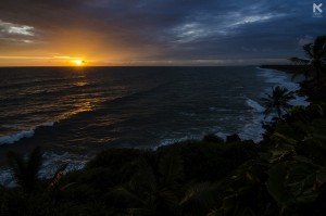
[[[294,63],[308,65],[308,71],[312,68],[315,71],[316,81],[319,81],[321,73],[326,63],[326,35],[318,36],[313,43],[308,43],[302,47],[308,59],[290,58]]]

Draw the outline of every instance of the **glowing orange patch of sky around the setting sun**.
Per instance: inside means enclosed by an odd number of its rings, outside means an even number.
[[[41,35],[41,34],[40,34]],[[30,39],[7,41],[0,53],[0,66],[74,66],[76,60],[84,65],[124,64],[130,55],[114,45],[103,41],[96,34],[86,30],[62,30],[60,38],[25,36]]]

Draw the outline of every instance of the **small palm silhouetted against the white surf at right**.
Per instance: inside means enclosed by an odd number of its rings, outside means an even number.
[[[289,104],[289,101],[296,98],[294,92],[279,86],[273,87],[272,89],[272,96],[267,94],[267,98],[262,99],[263,105],[266,109],[264,114],[266,116],[276,111],[278,118],[281,119],[283,113],[288,113],[288,110],[292,107],[292,105]]]

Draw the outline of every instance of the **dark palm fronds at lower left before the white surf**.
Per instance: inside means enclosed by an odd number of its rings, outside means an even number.
[[[38,182],[38,173],[42,165],[42,153],[39,147],[35,148],[27,160],[10,151],[7,154],[13,175],[17,183],[26,191],[33,192]]]

